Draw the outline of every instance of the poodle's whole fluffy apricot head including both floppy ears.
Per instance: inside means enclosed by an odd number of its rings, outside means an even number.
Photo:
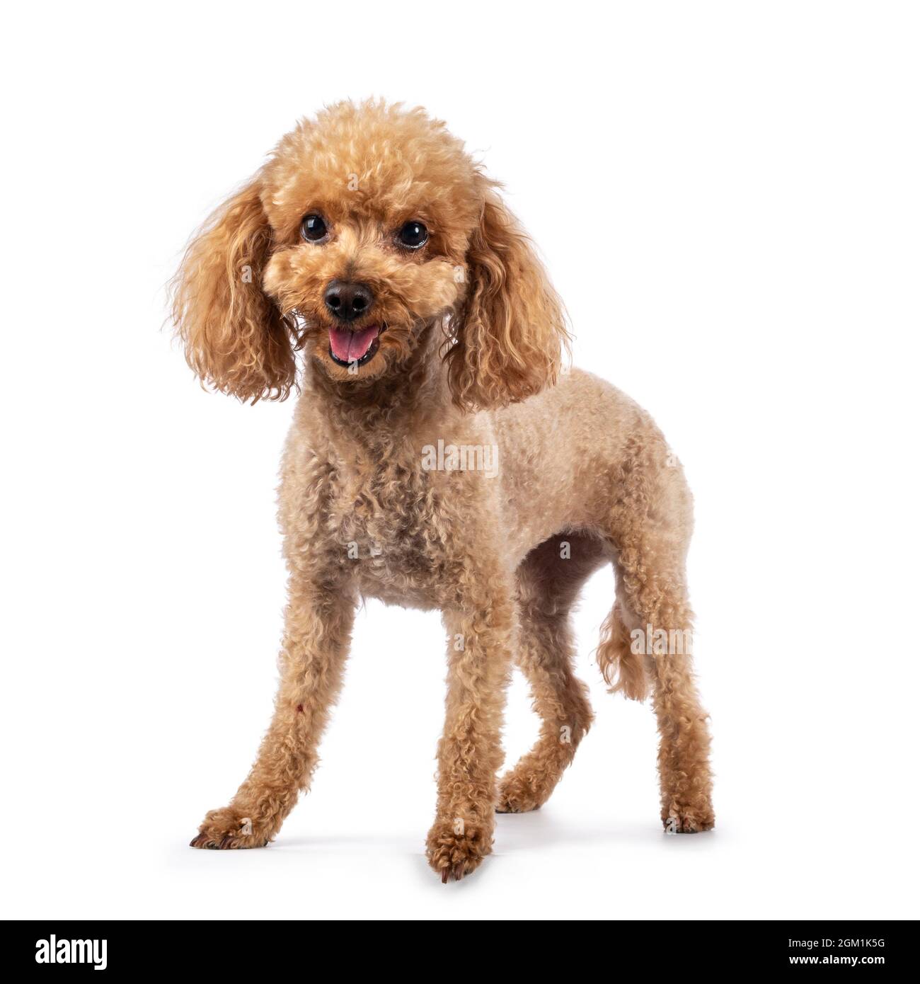
[[[342,388],[445,330],[454,400],[521,400],[555,378],[561,309],[494,182],[420,109],[339,103],[277,145],[212,216],[175,281],[192,367],[243,400],[283,399],[295,352]],[[440,355],[439,355],[440,357]]]

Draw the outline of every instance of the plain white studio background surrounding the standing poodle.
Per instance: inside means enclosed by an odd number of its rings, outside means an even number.
[[[2,43],[4,915],[920,914],[915,6],[20,5]],[[293,404],[202,392],[163,285],[299,116],[370,94],[506,182],[576,364],[684,461],[712,833],[660,830],[602,572],[596,724],[469,880],[422,854],[440,621],[377,602],[276,843],[186,846],[271,712]],[[509,759],[535,731],[516,678]]]

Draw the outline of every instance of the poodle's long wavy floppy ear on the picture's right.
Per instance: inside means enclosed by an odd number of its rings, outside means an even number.
[[[454,401],[503,406],[555,383],[568,348],[562,304],[517,219],[489,189],[467,250],[469,283],[447,351]]]

